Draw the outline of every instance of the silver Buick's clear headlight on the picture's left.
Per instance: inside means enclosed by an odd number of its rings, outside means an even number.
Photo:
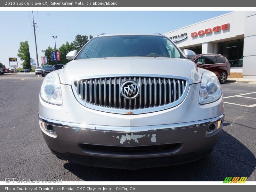
[[[62,104],[60,78],[58,73],[49,73],[43,81],[40,91],[41,98],[54,105]]]

